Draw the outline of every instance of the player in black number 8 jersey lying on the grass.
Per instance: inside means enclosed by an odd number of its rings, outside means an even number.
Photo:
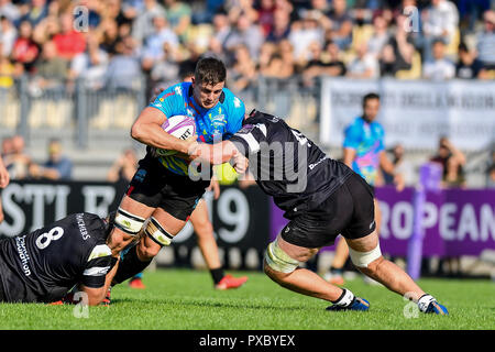
[[[0,301],[54,302],[75,287],[85,304],[99,305],[116,262],[107,245],[113,219],[75,213],[0,241]]]

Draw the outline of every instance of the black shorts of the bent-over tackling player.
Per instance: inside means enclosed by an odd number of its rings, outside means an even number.
[[[315,249],[331,245],[339,234],[355,240],[375,228],[373,189],[353,173],[315,210],[297,216],[282,230],[282,238],[295,245]]]

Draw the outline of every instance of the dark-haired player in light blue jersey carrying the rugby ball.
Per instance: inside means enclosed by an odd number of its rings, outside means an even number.
[[[147,153],[119,206],[109,245],[118,257],[146,222],[145,235],[125,253],[118,271],[110,273],[107,285],[113,275],[113,284],[118,284],[142,272],[162,246],[170,244],[210,185],[210,180],[188,176],[188,151],[196,140],[212,144],[241,129],[244,103],[224,87],[226,76],[221,61],[201,58],[191,82],[172,86],[160,94],[134,122],[131,136],[147,145]],[[183,141],[165,132],[162,124],[173,116],[194,118],[197,139]],[[156,157],[155,148],[178,153]]]

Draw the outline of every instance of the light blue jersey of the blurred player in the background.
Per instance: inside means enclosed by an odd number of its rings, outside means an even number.
[[[378,175],[380,153],[384,146],[385,131],[376,121],[367,123],[356,118],[346,129],[344,148],[355,151],[352,169],[361,175],[369,185],[374,186]]]

